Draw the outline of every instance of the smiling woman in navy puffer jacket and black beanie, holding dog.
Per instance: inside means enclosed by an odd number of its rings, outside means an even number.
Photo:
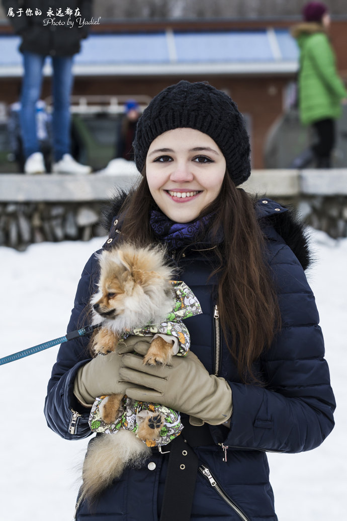
[[[304,231],[286,208],[237,188],[250,175],[249,137],[236,104],[207,83],[181,81],[154,97],[134,151],[142,179],[115,199],[104,249],[122,240],[166,247],[201,304],[185,321],[190,351],[152,367],[142,364],[146,338],[93,359],[86,340],[71,340],[45,415],[63,438],[86,438],[95,398],[122,386],[180,411],[184,429],[95,504],[80,496],[75,519],[275,521],[266,452],[314,449],[334,425]],[[97,279],[94,254],[68,331],[87,323]]]

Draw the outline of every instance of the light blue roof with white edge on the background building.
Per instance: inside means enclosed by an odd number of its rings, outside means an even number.
[[[0,35],[0,76],[20,76],[19,36]],[[298,49],[288,30],[91,34],[75,75],[293,72]],[[45,73],[50,73],[49,63]]]

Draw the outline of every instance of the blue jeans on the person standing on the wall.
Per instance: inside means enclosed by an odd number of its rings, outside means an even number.
[[[23,53],[24,76],[21,93],[20,126],[25,158],[40,152],[37,140],[35,104],[41,95],[46,56]],[[73,84],[72,56],[52,57],[53,65],[53,149],[54,161],[70,153],[70,94]]]

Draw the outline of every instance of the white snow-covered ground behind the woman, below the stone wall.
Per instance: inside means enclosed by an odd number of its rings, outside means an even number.
[[[103,243],[32,245],[24,253],[0,247],[0,356],[63,336],[89,255]],[[279,521],[327,521],[345,516],[347,490],[347,239],[312,231],[316,263],[307,274],[320,312],[326,358],[337,399],[336,427],[315,451],[269,454]],[[69,521],[78,466],[88,440],[66,441],[48,429],[46,386],[58,346],[0,367],[1,517],[6,521]],[[5,406],[6,405],[6,406]],[[144,520],[146,521],[146,520]]]

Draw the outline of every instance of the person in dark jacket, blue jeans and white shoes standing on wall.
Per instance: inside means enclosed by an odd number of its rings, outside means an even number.
[[[52,58],[53,76],[53,166],[55,173],[85,174],[89,166],[71,156],[70,94],[73,55],[80,52],[80,41],[88,32],[83,20],[90,21],[92,0],[57,2],[56,0],[2,0],[5,14],[21,36],[23,55],[20,126],[24,151],[24,173],[46,171],[36,131],[35,105],[40,98],[43,66]]]

